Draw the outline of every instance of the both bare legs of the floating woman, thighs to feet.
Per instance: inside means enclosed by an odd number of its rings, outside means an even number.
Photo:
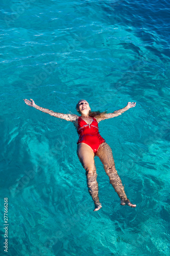
[[[77,153],[82,166],[86,170],[88,191],[94,202],[94,211],[97,211],[102,205],[99,201],[99,188],[96,180],[97,174],[94,163],[94,153],[91,147],[85,143],[78,144]],[[126,196],[124,186],[115,168],[112,150],[106,142],[101,144],[96,156],[102,161],[106,174],[109,176],[110,183],[120,198],[120,204],[136,207],[136,205],[132,204]]]

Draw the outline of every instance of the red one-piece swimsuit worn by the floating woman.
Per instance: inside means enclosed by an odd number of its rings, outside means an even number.
[[[94,117],[92,117],[93,121],[91,124],[87,124],[81,116],[78,119],[78,134],[79,134],[79,140],[77,144],[79,143],[85,143],[89,145],[94,152],[98,152],[99,146],[105,142],[105,139],[102,138],[102,136],[99,133],[99,127],[98,122]]]

